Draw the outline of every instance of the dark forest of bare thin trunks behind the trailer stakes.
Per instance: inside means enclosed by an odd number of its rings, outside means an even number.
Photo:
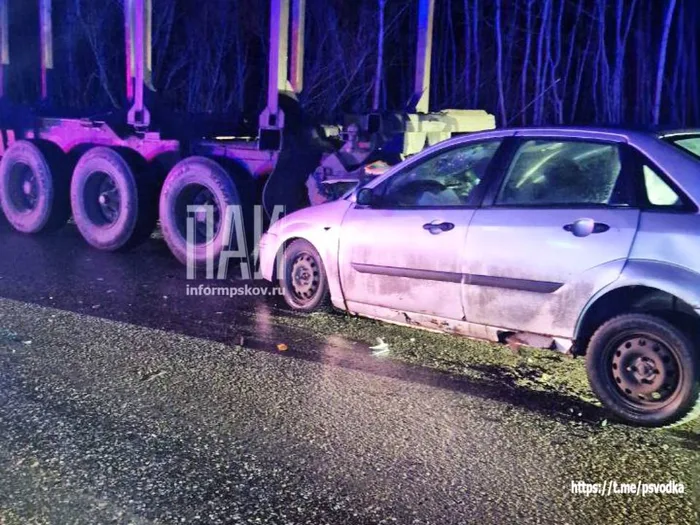
[[[18,102],[38,97],[37,3],[10,0],[8,78]],[[416,0],[307,0],[306,111],[332,120],[375,105],[403,109],[417,8]],[[153,0],[159,100],[255,120],[268,20],[267,0]],[[52,105],[123,106],[122,0],[54,0],[53,24]],[[436,0],[431,109],[485,109],[499,125],[697,125],[699,35],[698,0]]]

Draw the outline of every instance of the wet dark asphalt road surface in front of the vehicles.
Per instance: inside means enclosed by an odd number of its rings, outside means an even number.
[[[0,222],[0,254],[2,525],[699,522],[697,426],[603,427],[294,328],[278,299],[188,297],[157,239]],[[686,493],[571,493],[606,480]]]

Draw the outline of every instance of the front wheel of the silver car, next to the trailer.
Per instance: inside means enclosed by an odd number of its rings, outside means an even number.
[[[330,310],[326,269],[316,248],[296,239],[285,248],[283,257],[280,285],[287,305],[300,312]]]

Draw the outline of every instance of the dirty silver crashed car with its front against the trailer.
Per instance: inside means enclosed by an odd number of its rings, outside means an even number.
[[[700,133],[451,139],[275,222],[261,270],[295,310],[585,355],[625,422],[700,412]]]

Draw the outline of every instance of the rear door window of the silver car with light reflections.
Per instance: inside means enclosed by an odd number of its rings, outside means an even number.
[[[579,140],[528,140],[496,199],[505,206],[626,205],[620,149]]]

